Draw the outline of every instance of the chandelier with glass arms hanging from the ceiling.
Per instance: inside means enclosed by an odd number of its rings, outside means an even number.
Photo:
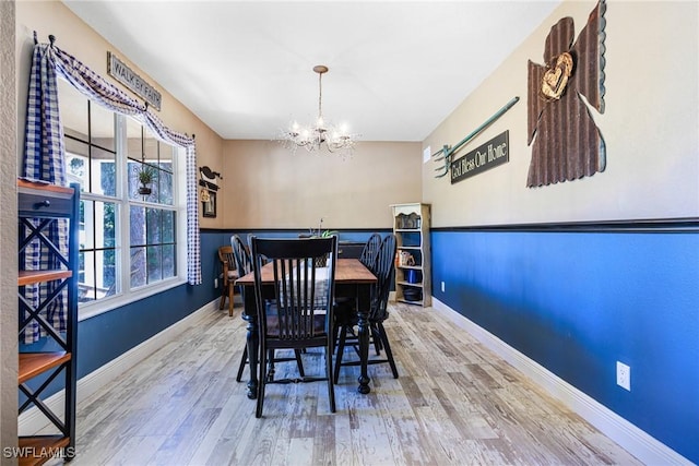
[[[328,72],[328,67],[319,64],[313,67],[313,71],[318,73],[318,119],[307,127],[303,127],[296,121],[292,122],[289,129],[283,133],[284,142],[294,152],[298,147],[304,147],[308,152],[320,151],[324,144],[328,152],[352,154],[357,135],[350,134],[344,126],[336,128],[323,120],[322,79],[323,74]]]

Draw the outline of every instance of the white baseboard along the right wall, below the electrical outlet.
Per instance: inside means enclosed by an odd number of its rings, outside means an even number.
[[[485,347],[506,360],[553,397],[580,415],[602,433],[621,445],[627,452],[648,465],[691,465],[692,463],[633,426],[606,406],[555,375],[543,366],[528,358],[485,328],[476,325],[437,298],[433,309],[469,332]]]

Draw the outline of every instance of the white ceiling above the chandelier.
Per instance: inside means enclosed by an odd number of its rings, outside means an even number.
[[[313,121],[325,64],[323,116],[364,141],[424,140],[560,3],[63,2],[224,139]]]

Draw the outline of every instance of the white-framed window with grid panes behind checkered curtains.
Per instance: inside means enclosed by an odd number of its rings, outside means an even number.
[[[59,105],[68,180],[81,188],[80,308],[106,310],[181,283],[180,150],[63,81]]]

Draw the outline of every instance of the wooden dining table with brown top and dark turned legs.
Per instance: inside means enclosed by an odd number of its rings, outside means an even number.
[[[265,288],[264,295],[274,296],[274,271],[272,263],[268,263],[261,268],[262,284]],[[358,337],[359,337],[359,360],[360,374],[357,392],[367,394],[369,387],[369,375],[367,373],[367,361],[369,359],[369,307],[371,299],[371,285],[376,284],[377,277],[364,266],[357,259],[337,259],[335,265],[335,298],[354,299],[357,309]],[[247,322],[247,345],[248,360],[250,365],[250,380],[248,382],[248,398],[257,397],[258,389],[258,361],[259,361],[259,337],[258,337],[258,308],[254,299],[254,273],[236,279],[235,285],[242,287],[242,300],[245,310],[242,319]],[[332,357],[332,355],[331,355]],[[332,374],[330,375],[332,377]]]

